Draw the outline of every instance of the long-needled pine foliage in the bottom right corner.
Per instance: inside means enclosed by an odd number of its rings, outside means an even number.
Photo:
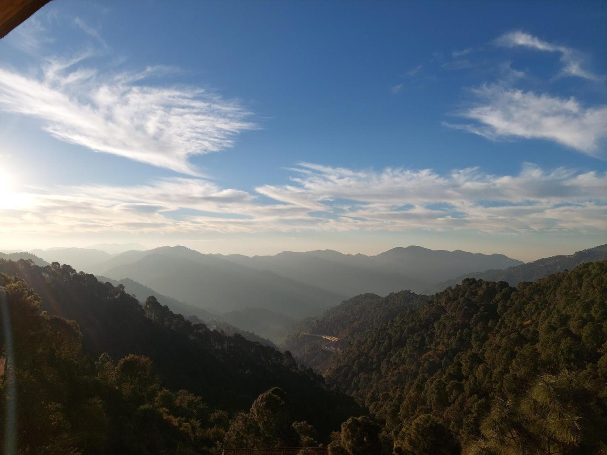
[[[605,392],[588,374],[544,373],[521,396],[495,400],[481,423],[483,437],[467,454],[599,453],[607,428]]]

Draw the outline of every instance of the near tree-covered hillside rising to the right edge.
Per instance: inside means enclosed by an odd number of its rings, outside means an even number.
[[[600,261],[517,288],[464,280],[352,337],[324,376],[396,453],[605,453],[606,340]]]

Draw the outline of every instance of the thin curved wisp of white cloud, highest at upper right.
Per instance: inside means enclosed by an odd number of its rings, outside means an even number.
[[[524,33],[520,30],[514,30],[513,32],[500,36],[500,38],[495,40],[495,44],[505,47],[522,46],[541,52],[557,52],[561,55],[560,60],[563,65],[560,76],[577,76],[591,80],[605,79],[603,76],[595,75],[591,71],[583,68],[585,58],[578,50],[564,45],[543,41],[536,36],[529,35],[529,33]]]

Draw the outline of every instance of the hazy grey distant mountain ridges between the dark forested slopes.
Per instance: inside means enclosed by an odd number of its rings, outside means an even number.
[[[394,248],[376,256],[330,250],[223,256],[183,246],[121,254],[78,248],[37,250],[36,254],[113,280],[131,278],[212,312],[249,309],[248,317],[257,322],[260,318],[252,314],[255,308],[299,319],[363,292],[419,292],[463,272],[521,264],[499,254],[432,251],[418,246]]]

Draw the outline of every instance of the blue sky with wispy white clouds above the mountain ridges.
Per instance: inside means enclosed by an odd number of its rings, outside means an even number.
[[[0,248],[607,243],[606,23],[595,1],[50,2],[0,40]]]

